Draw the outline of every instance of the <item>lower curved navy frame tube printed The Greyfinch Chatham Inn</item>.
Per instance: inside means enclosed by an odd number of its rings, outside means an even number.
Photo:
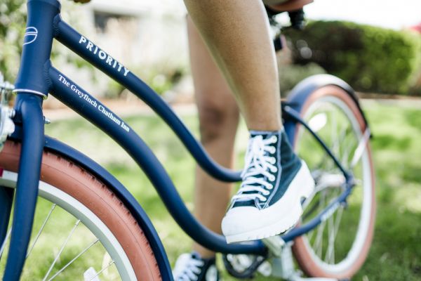
[[[222,253],[265,253],[261,242],[227,244],[225,237],[202,226],[185,206],[171,178],[152,150],[128,124],[54,67],[50,68],[49,74],[53,96],[107,133],[131,155],[156,188],[175,221],[196,242]]]

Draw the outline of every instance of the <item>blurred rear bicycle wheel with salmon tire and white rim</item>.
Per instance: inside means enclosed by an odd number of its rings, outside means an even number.
[[[366,124],[354,100],[338,86],[323,86],[311,93],[300,114],[352,171],[356,185],[345,206],[295,239],[295,258],[309,276],[352,277],[366,259],[375,221],[375,176],[369,143],[360,145],[362,155],[355,153]],[[297,126],[295,150],[316,181],[314,197],[303,204],[302,223],[306,223],[344,191],[345,178],[310,133]]]

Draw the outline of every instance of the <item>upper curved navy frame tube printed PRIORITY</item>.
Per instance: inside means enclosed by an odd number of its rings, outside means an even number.
[[[112,58],[111,55],[102,51],[92,41],[76,32],[66,22],[63,22],[60,15],[57,15],[55,18],[55,30],[55,39],[145,101],[170,126],[185,145],[185,148],[196,159],[196,162],[208,174],[221,181],[241,181],[241,171],[227,169],[210,158],[203,146],[196,141],[196,138],[173,112],[171,107],[144,81],[136,77],[135,74]]]

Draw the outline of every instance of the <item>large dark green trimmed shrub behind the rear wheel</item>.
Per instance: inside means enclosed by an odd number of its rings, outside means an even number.
[[[286,35],[295,63],[317,63],[358,91],[408,94],[420,70],[421,39],[408,32],[314,21]]]

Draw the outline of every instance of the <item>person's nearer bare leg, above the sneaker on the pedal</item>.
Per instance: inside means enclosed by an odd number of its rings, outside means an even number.
[[[250,130],[281,129],[278,72],[261,0],[185,0]]]

